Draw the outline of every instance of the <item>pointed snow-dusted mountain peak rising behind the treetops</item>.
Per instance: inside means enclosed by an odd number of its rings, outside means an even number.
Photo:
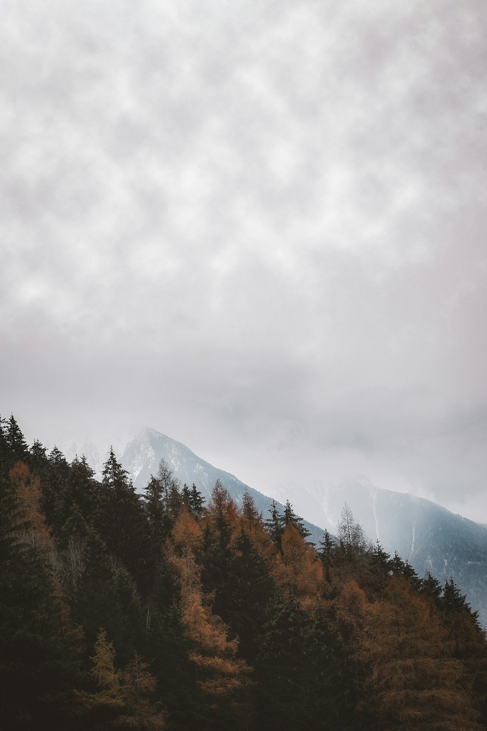
[[[257,510],[262,512],[264,518],[269,517],[267,511],[272,502],[271,498],[250,488],[241,480],[237,480],[233,474],[205,462],[184,444],[176,442],[175,439],[171,439],[155,429],[145,428],[132,439],[123,451],[120,462],[131,474],[137,491],[142,492],[150,480],[150,475],[157,474],[161,458],[169,463],[176,477],[181,480],[181,484],[185,482],[191,487],[194,482],[196,488],[207,500],[210,499],[215,482],[220,480],[237,504],[241,503],[242,495],[247,490],[253,497]],[[280,512],[283,512],[282,504],[277,502],[277,507]],[[323,529],[308,523],[307,520],[304,520],[304,525],[311,533],[309,540],[318,544],[318,541],[323,539]]]

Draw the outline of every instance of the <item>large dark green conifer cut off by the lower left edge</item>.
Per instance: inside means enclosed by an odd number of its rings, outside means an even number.
[[[0,477],[0,724],[4,729],[61,728],[77,710],[77,660],[42,550],[12,486]]]

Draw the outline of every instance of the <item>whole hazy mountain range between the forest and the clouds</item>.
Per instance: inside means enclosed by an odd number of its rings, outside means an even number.
[[[120,461],[131,474],[134,486],[141,492],[150,475],[156,475],[164,458],[182,483],[196,487],[210,499],[216,480],[220,480],[232,498],[240,503],[247,489],[258,510],[267,517],[271,498],[254,490],[233,474],[212,466],[196,456],[184,444],[155,429],[145,428],[126,445]],[[296,490],[296,488],[293,488]],[[318,543],[323,530],[331,534],[337,529],[345,501],[372,542],[379,540],[389,553],[395,551],[410,562],[418,575],[426,571],[442,583],[453,576],[473,610],[478,610],[483,626],[487,626],[487,527],[456,515],[432,501],[407,493],[376,488],[367,477],[342,482],[336,488],[299,487],[299,497],[306,493],[307,504],[316,524],[304,521],[311,531],[310,540]],[[288,499],[296,495],[290,490]],[[282,504],[278,503],[282,511]],[[306,514],[310,518],[310,513]]]

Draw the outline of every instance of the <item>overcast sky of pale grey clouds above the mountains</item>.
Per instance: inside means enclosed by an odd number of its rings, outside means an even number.
[[[485,10],[5,0],[1,414],[487,522]]]

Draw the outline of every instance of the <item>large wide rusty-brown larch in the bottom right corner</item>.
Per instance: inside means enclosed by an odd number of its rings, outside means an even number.
[[[445,656],[445,631],[401,575],[365,607],[358,655],[369,667],[364,706],[410,731],[475,729],[464,665]]]

